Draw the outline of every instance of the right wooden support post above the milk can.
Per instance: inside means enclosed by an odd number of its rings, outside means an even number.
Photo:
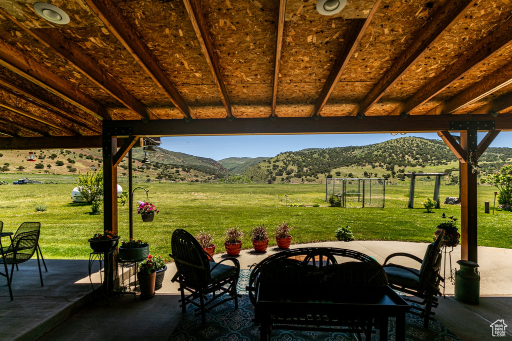
[[[478,262],[477,173],[472,172],[469,162],[478,152],[477,130],[462,131],[460,146],[468,161],[460,164],[461,258]]]

